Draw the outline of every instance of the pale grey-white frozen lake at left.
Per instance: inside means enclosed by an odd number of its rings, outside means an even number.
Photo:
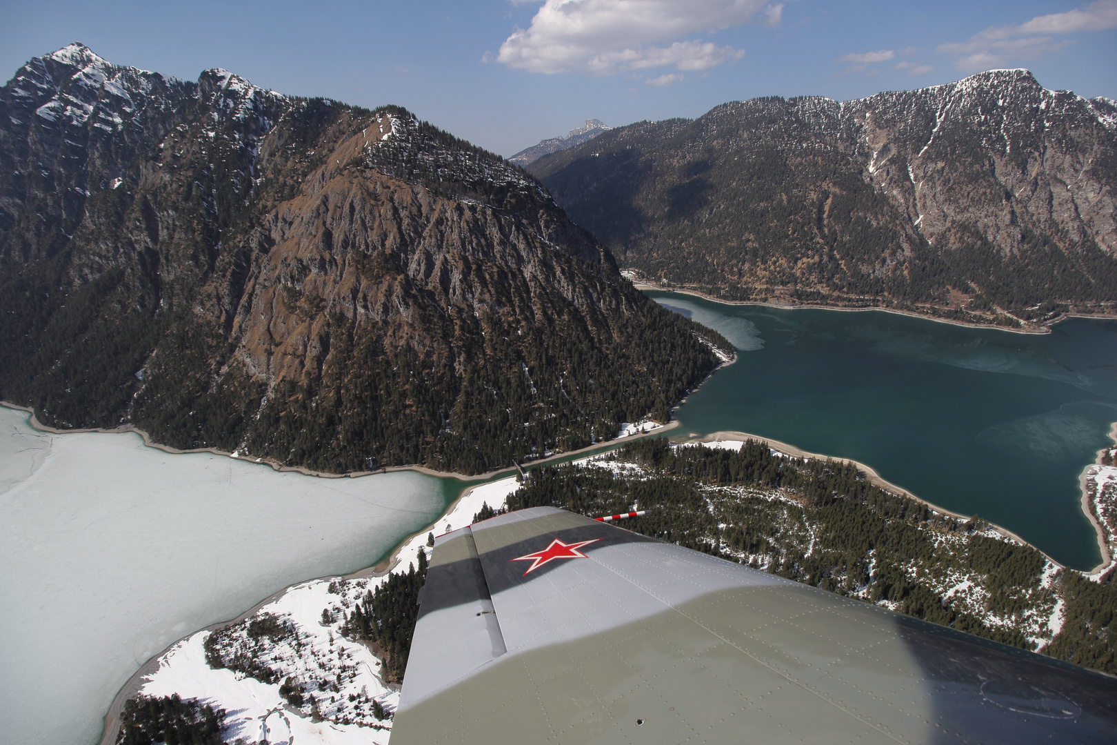
[[[376,563],[460,488],[48,434],[0,408],[0,742],[96,743],[149,658],[289,584]]]

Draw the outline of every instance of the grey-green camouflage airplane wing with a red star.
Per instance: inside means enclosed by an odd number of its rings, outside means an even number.
[[[436,541],[392,727],[392,745],[1115,739],[1117,678],[551,507]]]

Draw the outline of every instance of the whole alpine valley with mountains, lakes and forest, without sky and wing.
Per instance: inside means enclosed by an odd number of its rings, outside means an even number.
[[[0,723],[92,743],[118,691],[104,745],[386,743],[433,536],[533,506],[1115,674],[1115,168],[1117,105],[1027,70],[506,160],[35,57]]]

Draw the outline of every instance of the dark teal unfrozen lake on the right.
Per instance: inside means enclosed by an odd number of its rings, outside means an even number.
[[[648,295],[738,350],[679,408],[676,439],[737,430],[851,458],[1068,566],[1100,561],[1078,477],[1111,443],[1117,322],[1013,334],[879,311]]]

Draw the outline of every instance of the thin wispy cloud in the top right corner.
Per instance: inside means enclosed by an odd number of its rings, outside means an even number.
[[[1013,60],[1039,59],[1070,44],[1056,35],[1111,28],[1117,28],[1117,0],[1097,0],[1062,13],[1037,16],[1019,26],[991,26],[968,41],[941,44],[936,51],[953,56],[957,69],[976,71]]]

